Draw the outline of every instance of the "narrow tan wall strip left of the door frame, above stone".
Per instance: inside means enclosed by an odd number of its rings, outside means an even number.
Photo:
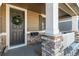
[[[6,4],[0,7],[0,32],[6,32]]]

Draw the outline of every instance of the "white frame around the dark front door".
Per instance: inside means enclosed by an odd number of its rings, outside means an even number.
[[[24,11],[24,13],[25,13],[25,43],[21,44],[21,45],[16,45],[13,47],[10,47],[10,8],[21,10],[21,11]],[[27,9],[20,8],[20,7],[14,6],[14,5],[10,5],[10,4],[6,4],[6,33],[7,33],[6,45],[8,47],[8,50],[27,45]]]

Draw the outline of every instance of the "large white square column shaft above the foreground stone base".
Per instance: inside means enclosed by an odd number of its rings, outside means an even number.
[[[49,35],[59,34],[57,3],[46,4],[46,33]]]

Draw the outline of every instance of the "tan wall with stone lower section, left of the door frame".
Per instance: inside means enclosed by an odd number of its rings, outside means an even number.
[[[3,46],[6,45],[6,4],[2,4],[0,7],[0,39]]]

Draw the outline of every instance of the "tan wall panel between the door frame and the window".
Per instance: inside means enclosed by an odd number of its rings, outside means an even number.
[[[33,11],[27,11],[27,28],[28,31],[39,30],[39,14]]]

